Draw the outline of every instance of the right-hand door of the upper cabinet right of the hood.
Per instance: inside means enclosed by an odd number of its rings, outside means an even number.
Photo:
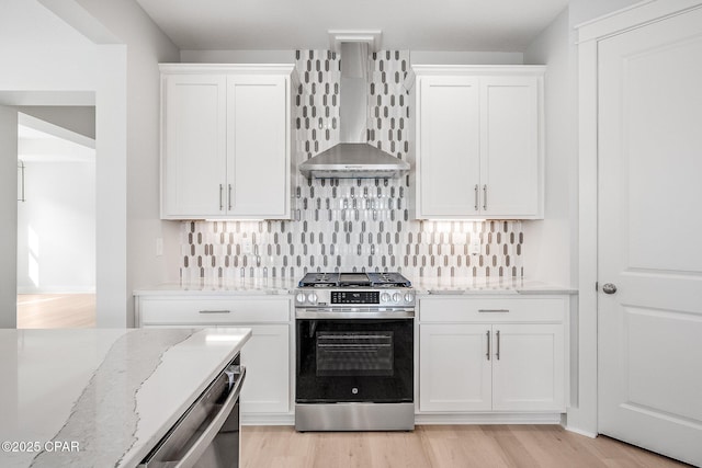
[[[540,215],[539,81],[480,78],[480,213]]]

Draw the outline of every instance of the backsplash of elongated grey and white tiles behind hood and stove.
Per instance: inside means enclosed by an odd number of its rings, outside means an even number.
[[[297,163],[339,141],[340,60],[298,50]],[[367,141],[407,158],[409,53],[369,57]],[[399,271],[407,276],[523,276],[520,221],[417,221],[408,178],[313,180],[295,175],[290,221],[183,221],[181,278],[275,276],[308,271]],[[472,239],[480,251],[469,253]]]

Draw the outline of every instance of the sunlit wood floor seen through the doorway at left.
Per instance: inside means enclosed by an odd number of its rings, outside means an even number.
[[[94,294],[20,294],[18,328],[93,328]]]

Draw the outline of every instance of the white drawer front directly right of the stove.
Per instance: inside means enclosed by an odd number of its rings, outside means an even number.
[[[419,299],[423,322],[561,322],[564,297],[426,297]]]

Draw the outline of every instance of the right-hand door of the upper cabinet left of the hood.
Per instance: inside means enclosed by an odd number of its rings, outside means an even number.
[[[227,78],[227,210],[290,217],[287,78]]]

